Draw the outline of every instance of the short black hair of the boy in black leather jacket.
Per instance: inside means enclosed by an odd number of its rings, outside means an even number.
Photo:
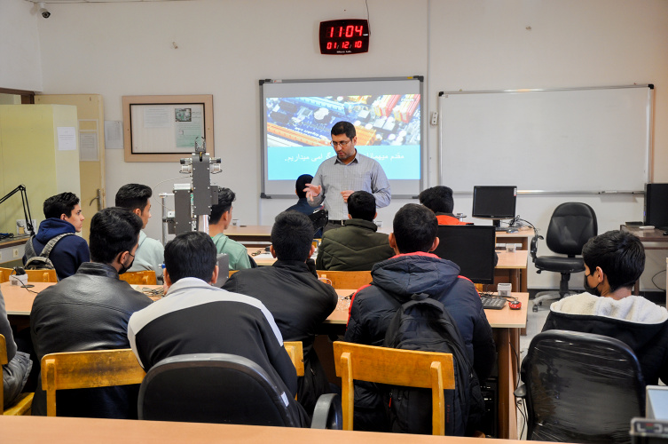
[[[90,260],[109,265],[119,253],[132,251],[142,226],[142,219],[124,208],[99,210],[90,219]]]

